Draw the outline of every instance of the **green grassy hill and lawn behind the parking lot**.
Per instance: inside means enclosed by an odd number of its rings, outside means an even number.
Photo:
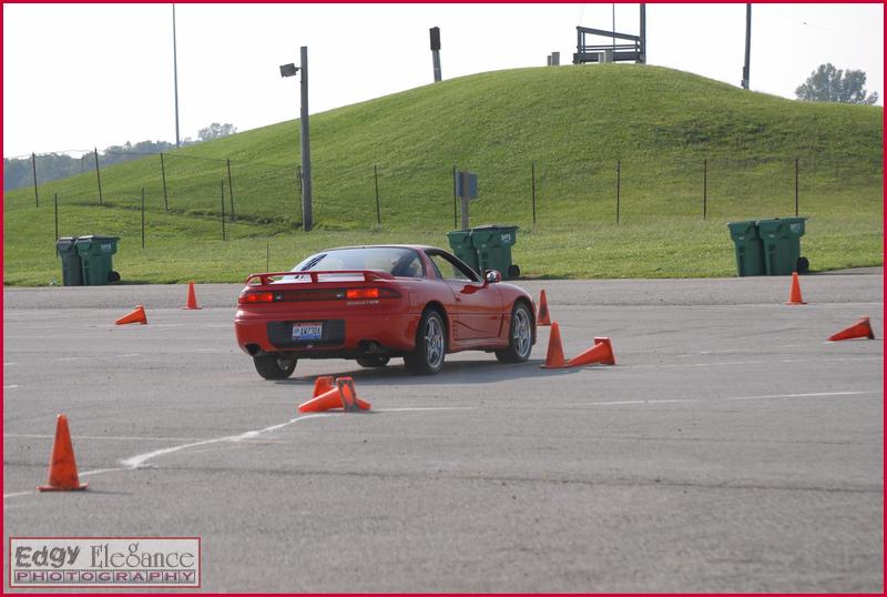
[[[60,235],[122,237],[124,281],[239,281],[346,243],[446,246],[453,166],[479,174],[472,225],[521,227],[514,261],[529,275],[734,275],[724,224],[794,215],[796,160],[812,267],[879,264],[883,121],[877,107],[795,102],[646,65],[482,73],[313,115],[310,233],[299,227],[298,121],[164,154],[165,199],[160,156],[104,169],[101,206],[94,173],[41,185],[40,208],[33,190],[8,193],[4,282],[59,279],[55,193]],[[223,242],[226,160],[237,220]]]

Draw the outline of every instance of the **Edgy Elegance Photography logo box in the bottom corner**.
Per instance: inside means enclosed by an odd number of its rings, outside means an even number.
[[[10,537],[9,584],[200,588],[200,537]]]

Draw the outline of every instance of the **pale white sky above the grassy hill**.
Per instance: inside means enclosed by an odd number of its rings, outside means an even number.
[[[172,4],[3,4],[3,156],[175,141]],[[575,27],[638,34],[639,4],[176,4],[180,136],[299,114],[278,67],[308,47],[312,114],[434,81],[569,64]],[[745,4],[648,4],[648,63],[736,87]],[[606,40],[601,40],[605,43]],[[822,63],[884,95],[883,4],[754,4],[751,89],[794,99]],[[585,65],[582,68],[594,68]],[[883,99],[878,100],[884,105]]]

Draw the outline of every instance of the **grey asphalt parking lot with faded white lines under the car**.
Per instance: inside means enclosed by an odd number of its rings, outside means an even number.
[[[801,283],[519,282],[618,364],[542,370],[540,327],[527,364],[285,382],[234,343],[238,285],[6,289],[4,587],[10,536],[200,536],[207,590],[880,591],[883,270]],[[297,416],[318,375],[373,411]],[[57,413],[86,492],[34,492]]]

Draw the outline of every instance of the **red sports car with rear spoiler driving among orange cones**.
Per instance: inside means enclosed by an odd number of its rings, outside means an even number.
[[[520,363],[536,344],[536,306],[501,279],[431,246],[330,249],[290,272],[251,275],[234,331],[266,380],[288,377],[299,358],[381,367],[402,356],[416,375],[439,372],[459,351]]]

